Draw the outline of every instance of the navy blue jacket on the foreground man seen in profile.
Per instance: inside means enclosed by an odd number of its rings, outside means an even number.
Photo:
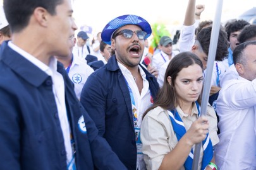
[[[8,47],[0,49],[0,169],[67,169],[52,79]],[[77,169],[126,169],[76,99],[63,65],[66,110],[76,146]],[[85,120],[85,128],[81,128]],[[83,130],[81,130],[83,129]]]

